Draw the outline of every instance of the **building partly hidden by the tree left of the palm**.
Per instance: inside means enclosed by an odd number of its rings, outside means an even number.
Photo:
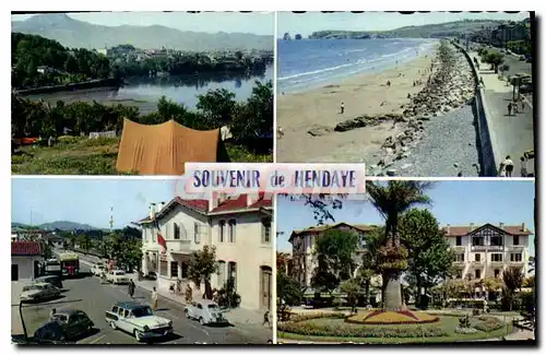
[[[334,225],[313,226],[301,230],[294,230],[288,239],[292,244],[292,258],[294,275],[299,283],[309,287],[313,270],[318,267],[317,258],[313,256],[314,244],[318,238],[328,230],[337,229],[344,232],[354,232],[360,236],[361,249],[355,255],[355,260],[359,262],[359,256],[364,251],[364,236],[366,233],[376,228],[373,225],[351,225],[347,223],[337,223]]]

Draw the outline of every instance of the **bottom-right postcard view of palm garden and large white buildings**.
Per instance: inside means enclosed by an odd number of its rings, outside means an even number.
[[[532,181],[368,181],[277,211],[277,343],[534,343]]]

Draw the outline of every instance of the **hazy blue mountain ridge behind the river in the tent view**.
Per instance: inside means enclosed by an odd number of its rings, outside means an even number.
[[[273,50],[273,34],[271,36],[224,32],[207,34],[159,25],[103,26],[79,21],[62,13],[38,14],[24,21],[12,21],[11,25],[12,32],[40,35],[71,48],[99,49],[105,46],[129,44],[141,49],[156,49],[163,46],[188,51]]]

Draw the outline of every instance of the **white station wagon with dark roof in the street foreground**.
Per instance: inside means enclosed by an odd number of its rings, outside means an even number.
[[[139,342],[173,334],[171,320],[154,316],[150,306],[136,301],[116,303],[106,311],[106,322],[114,330],[132,334]]]

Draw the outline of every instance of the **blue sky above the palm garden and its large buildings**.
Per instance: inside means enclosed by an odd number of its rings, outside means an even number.
[[[437,181],[428,196],[432,200],[429,209],[441,226],[521,225],[535,232],[534,198],[532,181]],[[383,224],[383,220],[369,201],[351,201],[342,210],[332,211],[335,222],[359,224]],[[304,201],[277,198],[277,250],[289,251],[292,230],[317,225],[312,211]],[[328,222],[332,224],[332,222]],[[532,236],[532,240],[534,236]],[[534,256],[534,244],[530,241],[530,253]]]

